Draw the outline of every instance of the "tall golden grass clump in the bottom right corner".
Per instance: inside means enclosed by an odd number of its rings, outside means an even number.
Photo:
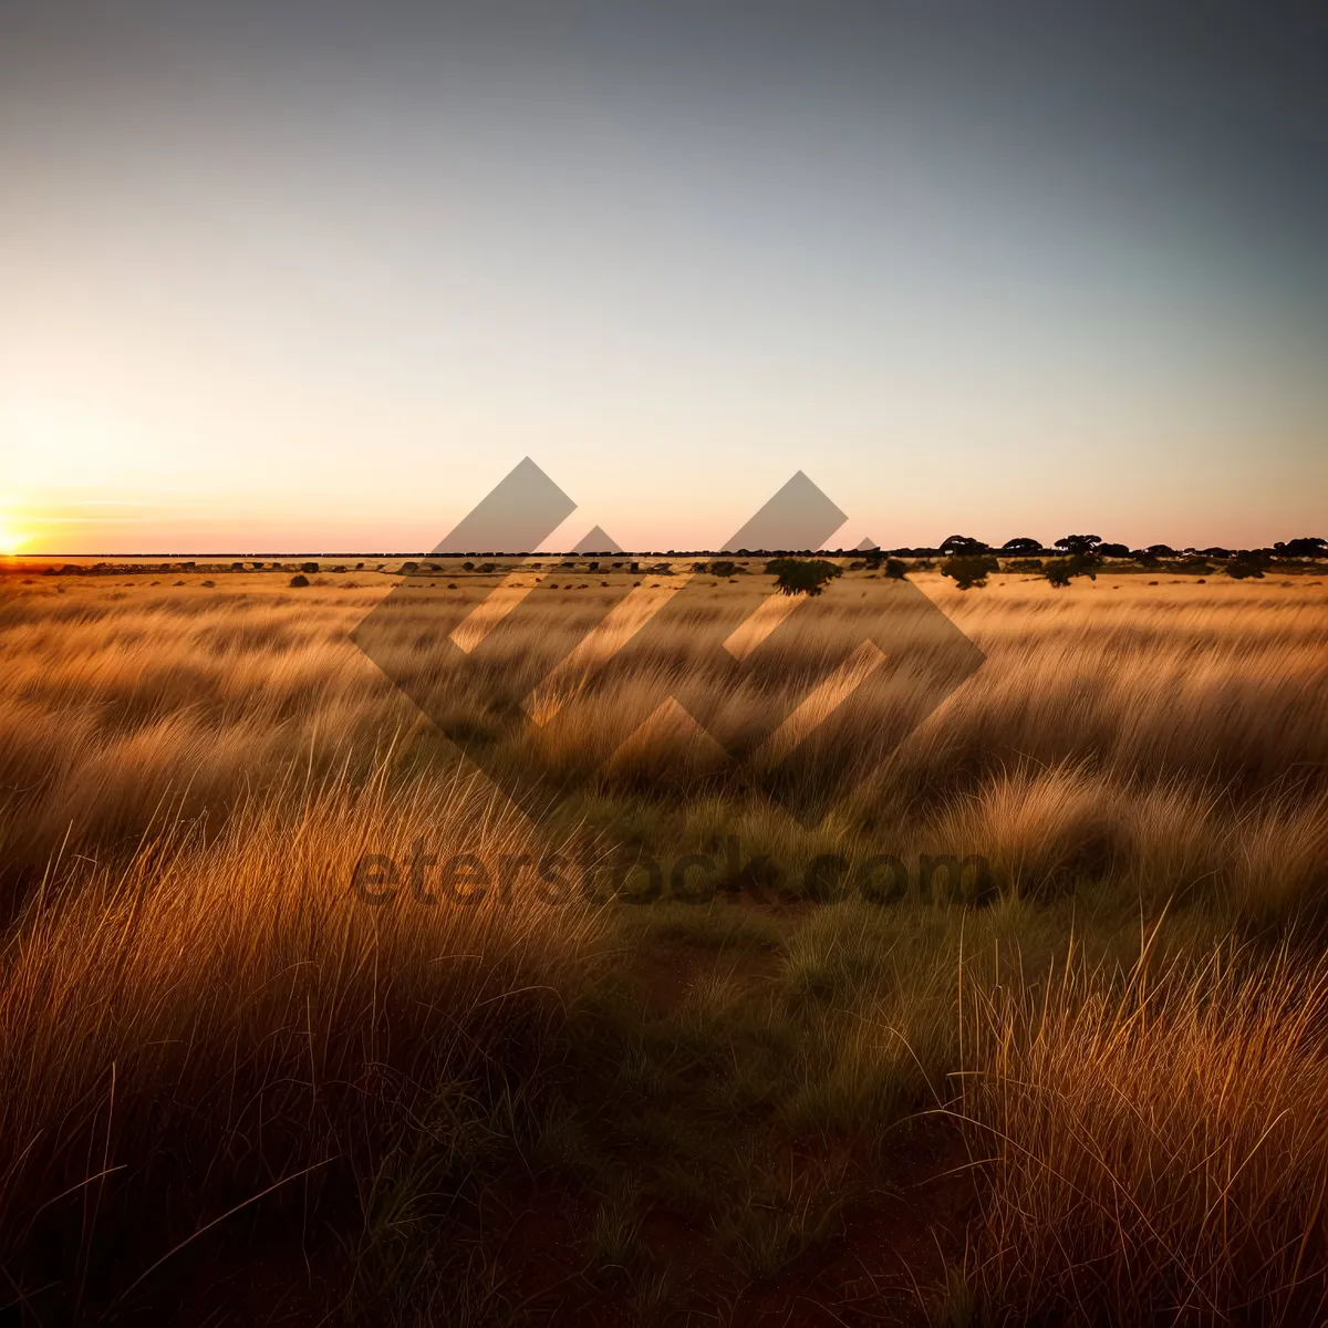
[[[989,1166],[972,1274],[1024,1323],[1317,1323],[1328,967],[1072,961],[973,993],[961,1120]]]

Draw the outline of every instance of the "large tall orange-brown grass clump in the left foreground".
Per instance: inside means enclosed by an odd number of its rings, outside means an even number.
[[[595,961],[595,915],[529,894],[352,894],[361,854],[548,849],[490,789],[267,774],[215,833],[167,819],[109,865],[54,858],[9,930],[0,1262],[20,1297],[42,1272],[114,1260],[141,1212],[124,1296],[283,1187],[296,1210],[344,1206],[421,1135],[459,1185],[477,1137],[511,1129],[562,988]]]

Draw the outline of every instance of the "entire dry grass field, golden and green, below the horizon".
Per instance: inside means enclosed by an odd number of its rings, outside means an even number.
[[[691,685],[758,744],[827,636],[900,594],[846,572],[710,687],[699,643],[770,592],[758,571],[693,576],[604,677],[550,665],[620,574],[546,575],[465,657],[440,645],[502,570],[412,582],[371,653],[506,788],[556,789],[533,821],[351,639],[397,575],[12,563],[0,1303],[1320,1320],[1320,578],[915,572],[985,661],[922,716],[939,656],[887,659],[834,734],[846,793],[803,827],[696,730],[637,732]],[[382,902],[352,887],[365,855],[397,865]],[[884,892],[882,855],[907,878]],[[947,857],[981,882],[928,874]]]

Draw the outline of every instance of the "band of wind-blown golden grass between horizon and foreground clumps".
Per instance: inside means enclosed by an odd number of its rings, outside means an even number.
[[[940,839],[997,847],[1020,887],[1056,865],[1020,857],[1019,838],[1044,858],[1077,853],[1080,866],[1094,853],[1117,869],[1134,863],[1154,883],[1161,872],[1169,890],[1239,876],[1251,906],[1259,896],[1291,902],[1320,883],[1321,588],[1154,588],[1135,578],[1121,590],[1104,580],[1056,591],[1008,580],[963,596],[940,579],[920,583],[988,659],[896,750],[890,736],[902,730],[915,680],[874,693],[875,710],[841,753],[851,793],[837,809],[839,830],[915,834],[935,822]],[[845,578],[826,602],[851,629],[883,584]],[[74,582],[65,595],[40,586],[0,604],[0,865],[32,872],[62,843],[94,855],[131,846],[163,799],[185,814],[224,814],[287,765],[327,773],[349,761],[363,778],[394,740],[398,760],[418,758],[428,725],[347,639],[381,591],[272,591],[244,576],[226,586],[124,595]],[[459,622],[483,588],[434,594]],[[449,720],[487,744],[486,764],[518,777],[578,770],[595,749],[587,726],[632,728],[696,663],[696,633],[681,624],[655,655],[596,681],[592,704],[572,708],[564,725],[522,729],[517,708],[603,612],[598,588],[538,594],[529,627],[481,685],[440,663],[448,615],[440,625],[436,607],[398,612],[380,643],[394,675],[433,675]],[[716,587],[716,607],[703,602],[697,612],[718,614],[724,595]],[[729,688],[716,703],[733,712],[726,726],[741,729],[742,712],[757,724],[795,704],[823,648],[806,632],[778,639],[762,688]],[[622,776],[583,770],[580,784],[611,798],[644,788],[671,810],[704,809],[733,791],[705,772],[712,752],[661,734]],[[436,765],[430,754],[426,768]]]

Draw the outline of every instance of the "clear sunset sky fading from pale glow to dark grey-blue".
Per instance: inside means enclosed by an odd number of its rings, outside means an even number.
[[[1321,4],[0,0],[0,551],[1328,534]]]

